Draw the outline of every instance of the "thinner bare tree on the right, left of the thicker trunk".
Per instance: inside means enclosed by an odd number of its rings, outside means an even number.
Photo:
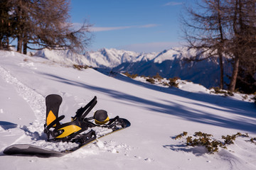
[[[225,13],[220,0],[197,1],[201,10],[187,8],[188,18],[183,17],[183,32],[189,48],[201,50],[200,60],[218,58],[220,64],[220,89],[223,89],[223,54],[225,35]],[[196,58],[192,59],[196,60]],[[196,60],[196,61],[200,61]]]

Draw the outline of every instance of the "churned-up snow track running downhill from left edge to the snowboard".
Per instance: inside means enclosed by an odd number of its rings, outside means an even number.
[[[21,126],[21,129],[24,130],[25,137],[30,138],[31,145],[37,145],[41,147],[46,147],[47,149],[54,149],[57,151],[62,151],[69,149],[70,147],[76,147],[77,144],[70,145],[68,142],[46,142],[47,137],[43,132],[43,125],[45,123],[46,116],[46,106],[45,106],[45,97],[35,90],[29,88],[25,84],[22,84],[21,81],[18,81],[16,77],[11,75],[9,71],[0,66],[0,75],[3,77],[4,81],[8,84],[13,84],[16,87],[18,95],[21,96],[31,107],[33,113],[36,116],[36,120],[31,123],[29,126]],[[14,143],[20,142],[23,140],[24,135],[19,137]]]

